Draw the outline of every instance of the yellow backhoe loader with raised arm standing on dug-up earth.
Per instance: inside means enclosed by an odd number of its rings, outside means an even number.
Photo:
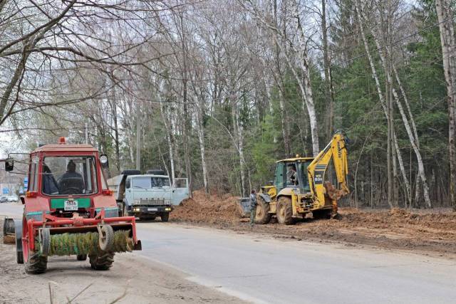
[[[294,219],[312,212],[314,219],[337,215],[337,201],[349,194],[347,174],[347,137],[338,131],[316,157],[281,159],[276,162],[274,182],[261,187],[257,224],[267,224],[276,215],[279,224],[294,224]],[[336,187],[325,182],[329,164],[336,173]]]

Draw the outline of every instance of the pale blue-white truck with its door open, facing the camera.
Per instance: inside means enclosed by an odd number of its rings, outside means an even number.
[[[172,206],[189,197],[188,180],[175,179],[162,170],[124,170],[120,175],[108,179],[123,216],[137,216],[139,219],[155,219],[160,216],[168,221]]]

